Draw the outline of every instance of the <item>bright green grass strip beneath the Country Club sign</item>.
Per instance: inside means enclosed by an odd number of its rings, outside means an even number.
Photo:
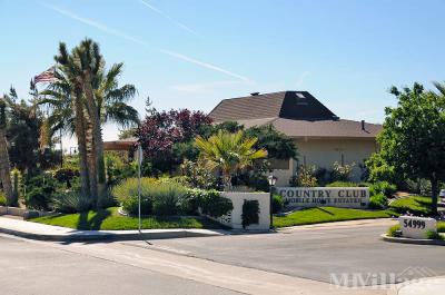
[[[284,217],[274,216],[275,227],[309,225],[355,219],[385,218],[396,215],[392,210],[360,210],[336,207],[305,208]]]

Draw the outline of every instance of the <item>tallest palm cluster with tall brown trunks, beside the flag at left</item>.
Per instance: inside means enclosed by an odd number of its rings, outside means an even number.
[[[83,41],[71,55],[68,55],[63,43],[60,45],[60,55],[56,57],[59,63],[55,73],[57,80],[40,96],[50,97],[43,98],[41,104],[52,106],[52,114],[48,118],[52,132],[59,129],[71,134],[76,131],[80,165],[86,166],[82,187],[89,184],[88,190],[100,207],[102,198],[98,198],[98,190],[99,195],[105,194],[103,156],[99,156],[102,160],[98,160],[97,155],[98,150],[103,155],[100,125],[113,121],[127,127],[138,124],[139,117],[137,110],[126,104],[135,96],[135,86],[125,85],[119,88],[118,77],[123,63],[113,65],[106,71],[98,47],[91,42]],[[91,96],[92,104],[88,99]],[[100,124],[95,124],[97,120]]]

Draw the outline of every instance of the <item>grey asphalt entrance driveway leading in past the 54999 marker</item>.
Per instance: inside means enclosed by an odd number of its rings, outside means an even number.
[[[384,222],[387,223],[387,222]],[[388,224],[281,234],[152,240],[160,250],[330,283],[333,275],[377,277],[377,284],[445,275],[445,247],[383,242]],[[134,245],[141,245],[139,242]],[[366,285],[375,284],[368,279]]]

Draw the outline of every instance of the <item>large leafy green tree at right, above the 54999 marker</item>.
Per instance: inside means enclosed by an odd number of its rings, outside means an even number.
[[[377,137],[378,161],[372,166],[411,179],[429,179],[433,214],[437,214],[438,184],[445,180],[445,85],[435,86],[437,91],[425,91],[419,83],[390,89],[398,104],[385,109],[384,128]]]

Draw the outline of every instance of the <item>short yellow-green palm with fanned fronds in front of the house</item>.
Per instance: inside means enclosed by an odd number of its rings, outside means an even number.
[[[256,159],[267,157],[265,149],[253,148],[257,140],[245,138],[243,130],[236,134],[219,130],[208,139],[198,136],[195,142],[206,165],[221,171],[225,190],[228,190],[234,173],[250,167]]]

